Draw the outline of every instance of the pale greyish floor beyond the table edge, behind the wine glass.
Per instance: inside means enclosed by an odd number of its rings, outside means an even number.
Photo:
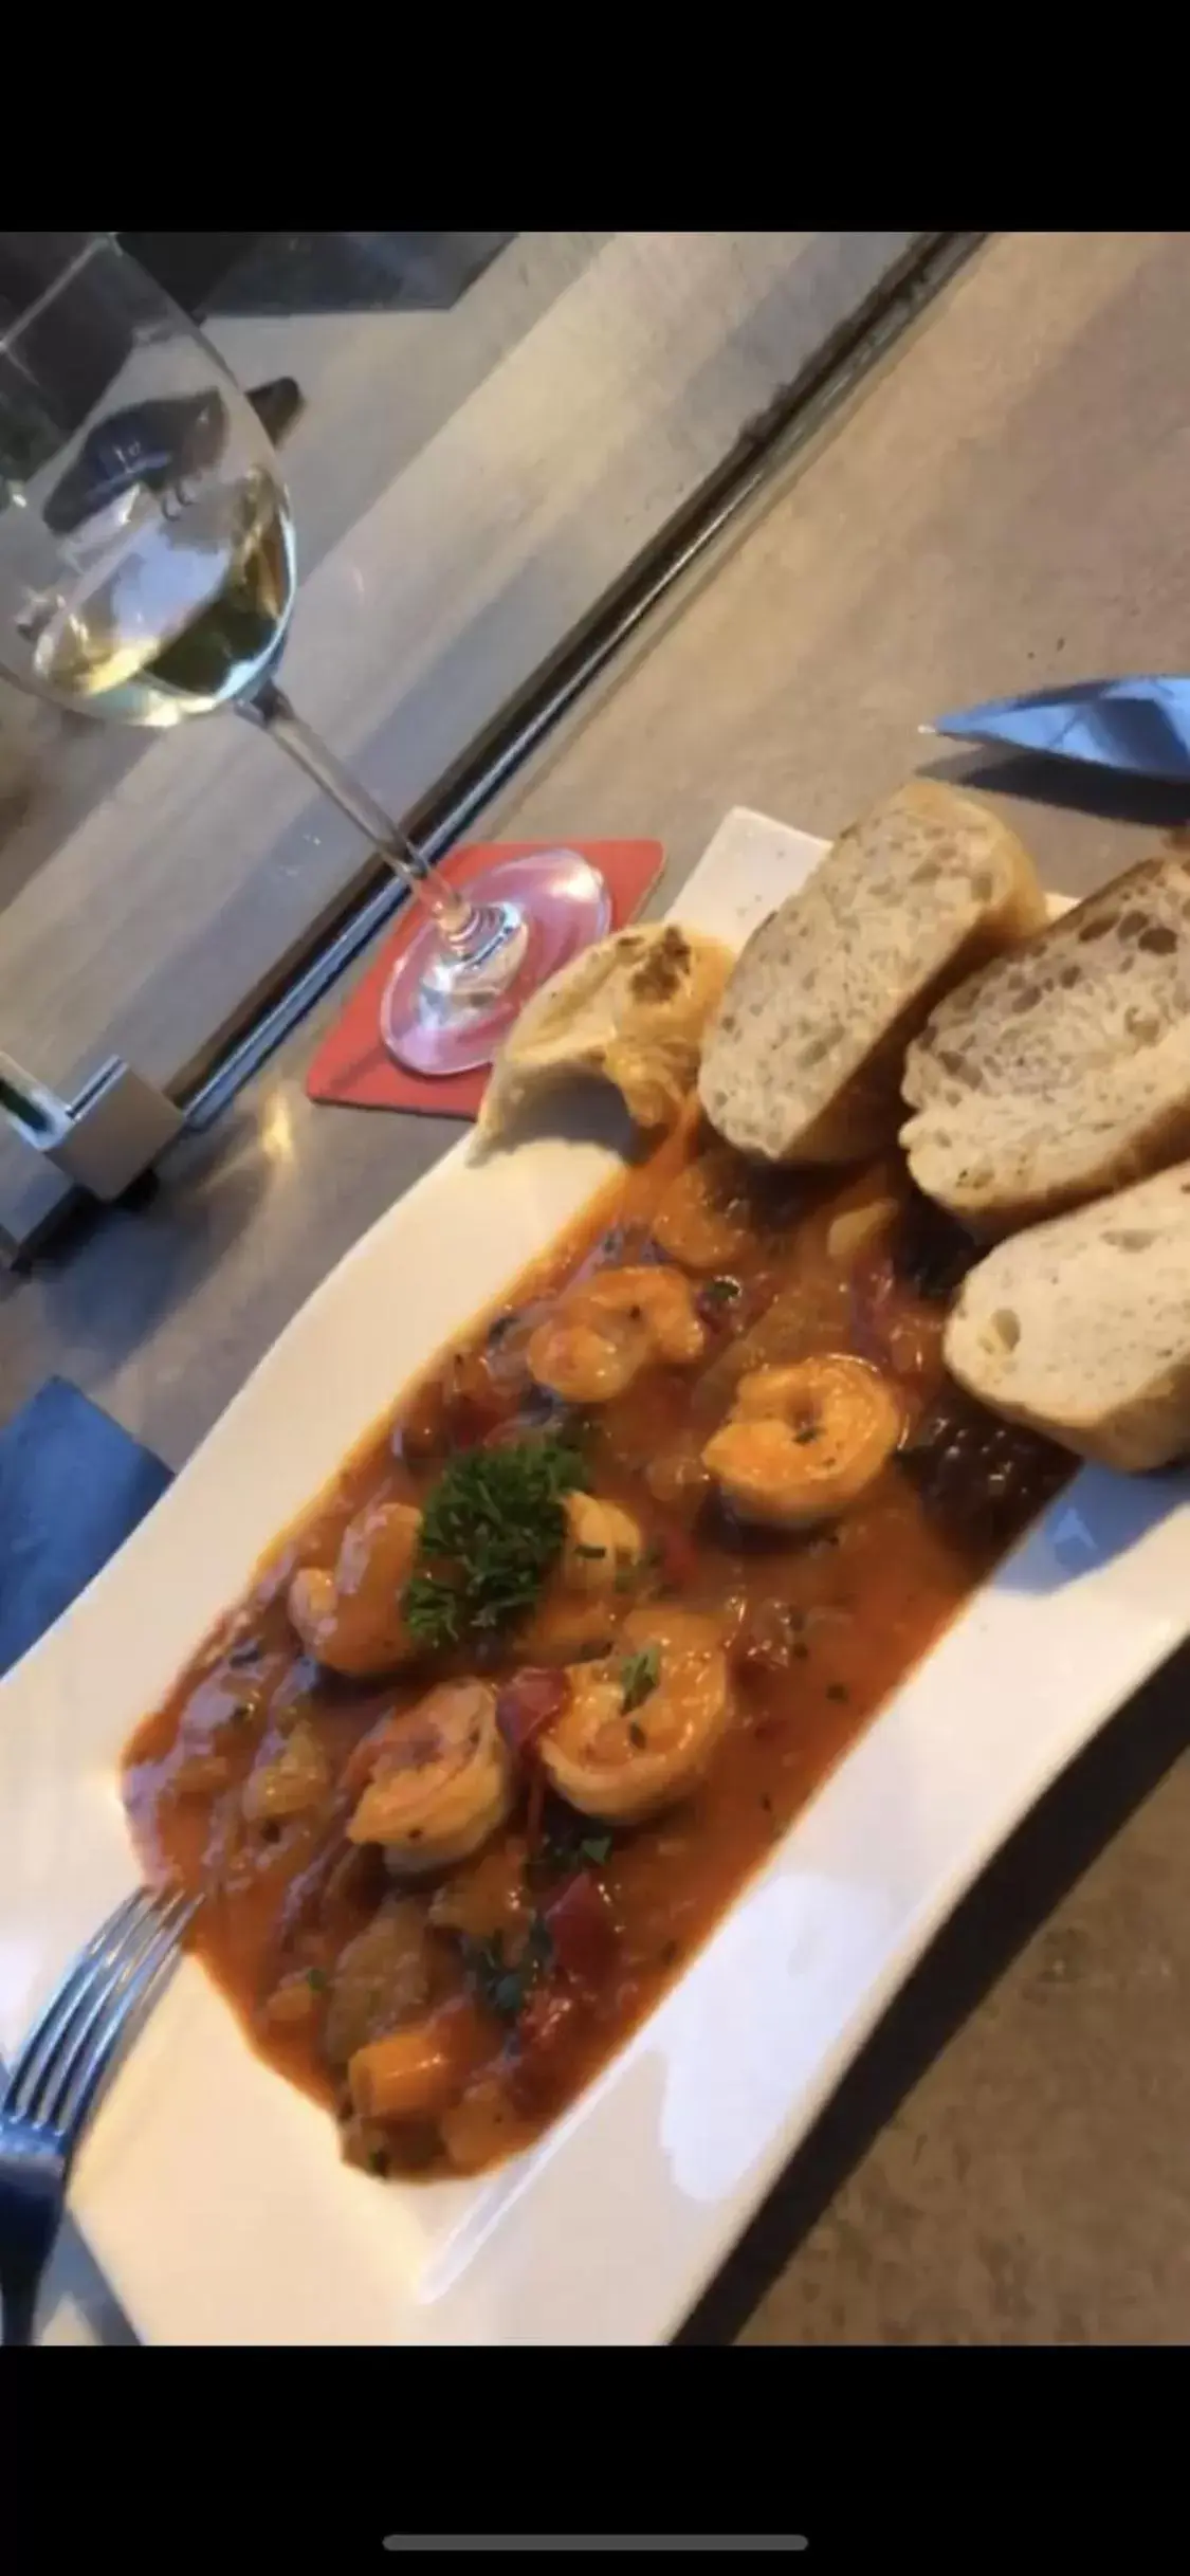
[[[301,711],[412,804],[690,497],[912,237],[518,234],[446,312],[214,325],[296,374]],[[0,683],[0,1043],[62,1090],[170,1082],[358,873],[265,739],[157,742]],[[5,1133],[0,1226],[57,1180]]]

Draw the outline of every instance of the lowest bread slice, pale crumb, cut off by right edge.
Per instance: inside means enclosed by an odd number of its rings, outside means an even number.
[[[943,1340],[981,1404],[1131,1473],[1190,1453],[1190,1162],[968,1270]]]

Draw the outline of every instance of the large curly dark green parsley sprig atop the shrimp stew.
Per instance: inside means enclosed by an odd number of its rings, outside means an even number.
[[[458,1646],[531,1610],[562,1556],[562,1497],[577,1484],[582,1458],[556,1432],[451,1458],[425,1504],[404,1587],[410,1636]]]

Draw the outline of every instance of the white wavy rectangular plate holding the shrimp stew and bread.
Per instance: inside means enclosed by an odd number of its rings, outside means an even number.
[[[739,943],[822,855],[737,809],[680,894]],[[118,1757],[404,1381],[616,1170],[464,1139],[281,1334],[149,1520],[0,1685],[0,2053],[137,1880]],[[997,1844],[1185,1633],[1190,1479],[1084,1471],[974,1595],[564,2120],[492,2177],[376,2184],[185,1960],[75,2215],[175,2344],[649,2344],[675,2331]]]

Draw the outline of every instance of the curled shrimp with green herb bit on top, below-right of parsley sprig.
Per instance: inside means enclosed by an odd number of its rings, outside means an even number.
[[[716,1620],[654,1602],[628,1613],[616,1654],[569,1669],[541,1762],[582,1816],[636,1821],[701,1780],[729,1716]]]

